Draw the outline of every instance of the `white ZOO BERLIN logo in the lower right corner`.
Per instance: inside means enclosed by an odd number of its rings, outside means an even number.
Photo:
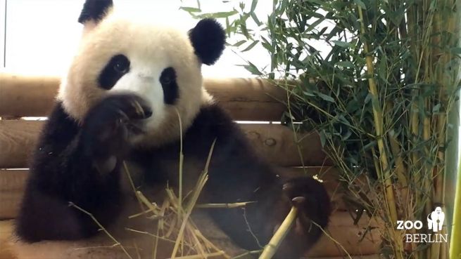
[[[432,230],[431,234],[413,233],[405,234],[407,243],[442,243],[447,242],[448,234],[438,233],[442,230],[445,221],[445,213],[441,207],[436,207],[434,211],[427,215],[427,230]],[[421,220],[397,220],[397,230],[421,230],[423,227]]]

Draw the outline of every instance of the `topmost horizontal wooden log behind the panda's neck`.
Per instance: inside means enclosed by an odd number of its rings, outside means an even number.
[[[0,117],[46,117],[58,91],[58,77],[0,73]],[[239,121],[279,121],[286,93],[263,79],[205,79],[217,102]]]

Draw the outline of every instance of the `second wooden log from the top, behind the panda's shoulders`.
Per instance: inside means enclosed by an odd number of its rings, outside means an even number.
[[[27,168],[44,121],[0,121],[0,168]],[[301,157],[293,133],[278,124],[239,124],[261,157],[277,166],[299,166]],[[300,135],[300,138],[302,136]],[[329,165],[318,135],[312,133],[300,144],[304,164]]]

